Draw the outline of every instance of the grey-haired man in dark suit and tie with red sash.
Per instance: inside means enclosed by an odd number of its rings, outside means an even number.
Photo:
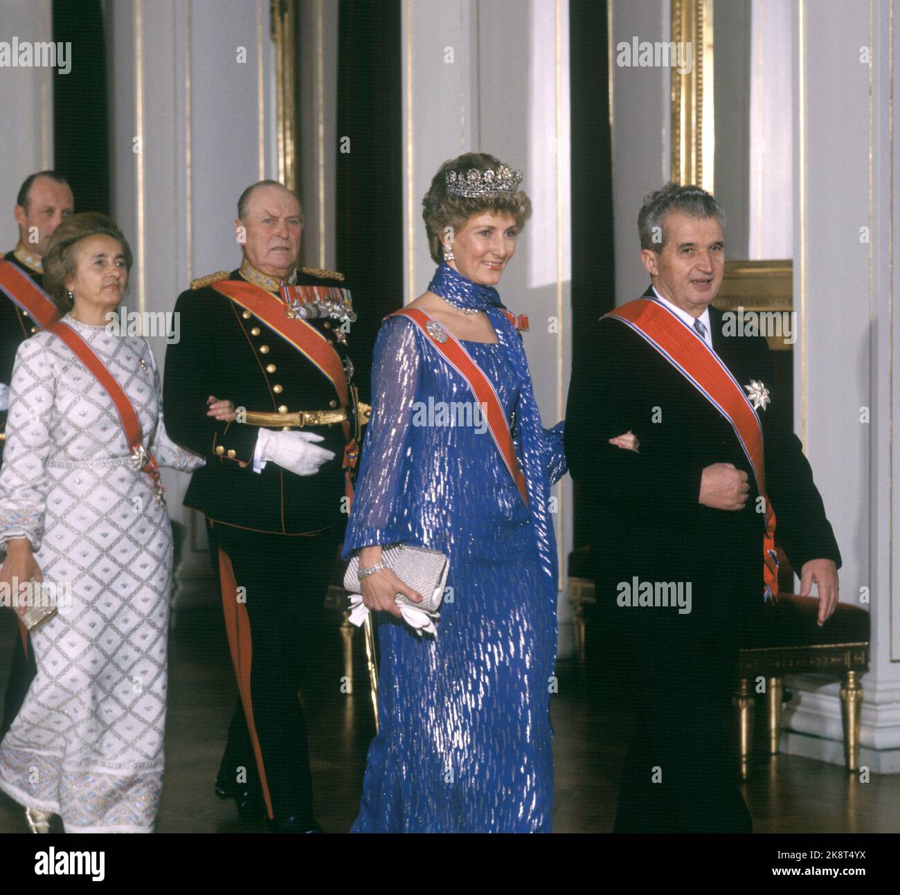
[[[569,391],[566,456],[593,512],[599,619],[637,700],[617,832],[752,830],[726,721],[739,644],[765,621],[773,528],[801,594],[818,587],[820,625],[838,600],[840,552],[766,339],[710,305],[723,220],[696,186],[647,196],[652,284],[603,318],[601,366],[576,371]],[[626,430],[639,452],[608,444]]]

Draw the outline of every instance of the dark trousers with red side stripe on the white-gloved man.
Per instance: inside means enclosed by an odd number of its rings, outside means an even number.
[[[227,556],[234,583],[246,598],[236,606],[229,582],[223,582],[229,646],[232,659],[238,656],[243,666],[235,668],[243,692],[229,726],[218,783],[230,788],[246,780],[249,789],[262,789],[270,817],[297,817],[311,824],[310,758],[298,691],[338,685],[321,680],[318,657],[328,623],[323,604],[344,526],[311,536],[251,532],[220,523],[207,530],[213,558]],[[220,575],[227,565],[220,564]]]

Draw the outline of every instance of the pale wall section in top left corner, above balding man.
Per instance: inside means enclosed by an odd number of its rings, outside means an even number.
[[[0,16],[0,40],[12,43],[18,38],[20,44],[52,40],[50,0],[4,0]],[[0,68],[0,109],[4,117],[0,249],[5,253],[19,238],[13,218],[19,187],[28,175],[53,167],[53,69]]]

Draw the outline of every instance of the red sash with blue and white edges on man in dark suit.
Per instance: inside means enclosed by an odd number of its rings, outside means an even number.
[[[707,398],[734,428],[753,470],[756,487],[766,504],[766,533],[762,539],[763,581],[766,597],[779,594],[779,561],[775,553],[775,511],[766,493],[766,465],[760,417],[750,399],[718,355],[669,309],[652,299],[629,301],[609,311],[671,363]]]

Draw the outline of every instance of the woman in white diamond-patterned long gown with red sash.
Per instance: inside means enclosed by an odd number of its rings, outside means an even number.
[[[130,398],[142,445],[160,466],[193,470],[202,459],[166,437],[147,339],[113,335],[106,322],[130,265],[112,221],[79,214],[54,234],[45,286],[68,310],[62,322]],[[70,585],[71,605],[31,631],[37,676],[0,744],[0,790],[25,806],[34,832],[51,814],[67,832],[151,832],[163,777],[172,529],[154,480],[132,462],[111,395],[54,328],[15,358],[0,580]]]

